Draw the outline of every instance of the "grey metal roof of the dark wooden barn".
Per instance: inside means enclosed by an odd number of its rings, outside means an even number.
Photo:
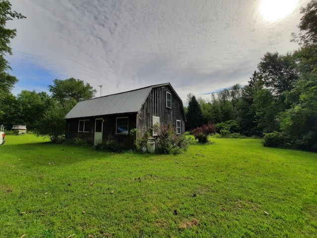
[[[148,98],[152,88],[165,85],[169,85],[171,87],[169,83],[164,83],[81,101],[69,111],[69,113],[65,116],[65,119],[137,113],[141,110],[141,107]]]

